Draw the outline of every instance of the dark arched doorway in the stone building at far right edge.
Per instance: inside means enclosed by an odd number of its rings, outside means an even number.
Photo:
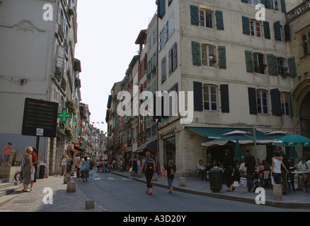
[[[310,138],[310,92],[304,97],[300,107],[300,127],[302,136]],[[310,148],[304,147],[304,157],[310,156]]]

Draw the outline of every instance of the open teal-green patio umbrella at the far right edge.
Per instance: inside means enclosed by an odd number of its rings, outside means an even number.
[[[310,139],[306,136],[296,134],[282,136],[272,142],[272,145],[282,145],[287,147],[309,147]]]

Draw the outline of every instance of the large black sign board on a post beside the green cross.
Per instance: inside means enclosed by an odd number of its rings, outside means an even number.
[[[22,135],[56,137],[58,103],[25,98]]]

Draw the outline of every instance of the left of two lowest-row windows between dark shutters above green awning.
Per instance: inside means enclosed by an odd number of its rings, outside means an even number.
[[[217,112],[217,86],[203,85],[204,109],[209,112]]]

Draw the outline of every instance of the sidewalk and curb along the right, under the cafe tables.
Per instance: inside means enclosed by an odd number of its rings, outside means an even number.
[[[118,174],[122,177],[127,177],[130,179],[134,179],[137,182],[146,183],[144,174],[142,177],[131,177],[130,172],[112,172],[113,174]],[[295,182],[296,183],[296,182]],[[168,190],[168,181],[167,179],[163,179],[161,174],[157,174],[157,181],[152,182],[153,186],[159,186],[162,188],[166,188]],[[297,184],[295,184],[295,188],[297,188]],[[272,206],[276,208],[294,208],[294,209],[310,209],[310,189],[308,193],[306,193],[306,189],[303,188],[304,191],[292,191],[288,195],[282,196],[282,201],[275,201],[272,198],[272,189],[265,189],[265,206]],[[179,179],[175,177],[173,179],[173,191],[185,192],[189,194],[196,194],[200,196],[209,196],[212,198],[222,198],[231,201],[239,201],[244,203],[253,203],[256,204],[256,196],[259,194],[248,192],[247,187],[238,186],[235,191],[227,192],[226,184],[222,185],[222,190],[219,192],[213,192],[210,189],[209,182],[198,180],[194,177],[186,177],[185,186],[179,186]],[[156,187],[154,187],[153,192],[156,192]]]

